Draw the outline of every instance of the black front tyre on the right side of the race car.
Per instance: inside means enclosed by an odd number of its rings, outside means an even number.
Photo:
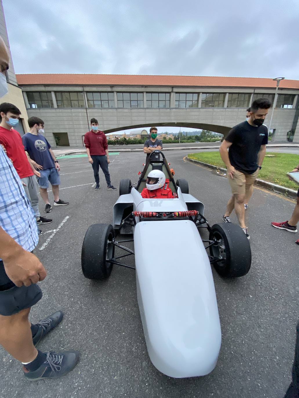
[[[221,276],[240,277],[248,273],[251,266],[251,249],[242,228],[233,223],[214,224],[209,239],[220,240],[220,245],[210,246],[213,257],[223,258],[214,263],[214,268]]]

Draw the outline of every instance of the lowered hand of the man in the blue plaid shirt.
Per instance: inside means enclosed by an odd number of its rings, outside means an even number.
[[[3,263],[7,276],[18,287],[30,286],[32,283],[43,281],[47,276],[47,271],[39,259],[22,248],[3,259]]]

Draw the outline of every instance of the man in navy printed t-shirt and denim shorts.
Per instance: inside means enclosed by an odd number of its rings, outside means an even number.
[[[22,141],[26,152],[33,161],[33,166],[40,171],[41,176],[37,178],[39,190],[46,204],[45,213],[50,213],[52,207],[47,193],[49,181],[54,195],[54,206],[65,206],[69,202],[59,199],[60,166],[51,150],[51,145],[42,135],[45,132],[43,121],[39,117],[33,116],[28,119],[28,124],[30,131],[23,135]]]

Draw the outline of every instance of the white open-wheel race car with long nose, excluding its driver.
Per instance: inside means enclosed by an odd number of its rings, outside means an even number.
[[[141,196],[154,169],[164,172],[173,198]],[[250,244],[235,224],[209,225],[203,203],[189,194],[185,179],[174,181],[161,151],[151,153],[133,185],[130,179],[120,181],[113,225],[94,224],[87,230],[83,274],[106,279],[113,265],[134,268],[121,259],[135,255],[138,306],[151,362],[170,377],[207,375],[216,366],[221,344],[211,264],[224,277],[245,275],[251,265]],[[209,239],[201,238],[201,228],[208,230]],[[134,251],[126,242],[134,242]],[[158,256],[148,250],[153,242],[160,248]],[[115,256],[115,248],[124,254]]]

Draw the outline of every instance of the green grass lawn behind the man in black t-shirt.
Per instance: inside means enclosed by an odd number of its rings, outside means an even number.
[[[273,157],[268,157],[267,155],[273,155]],[[188,157],[190,159],[199,160],[200,162],[205,162],[213,164],[214,166],[225,168],[225,165],[220,158],[219,152],[191,153],[188,155]],[[287,178],[286,173],[293,170],[298,163],[298,155],[267,152],[258,178],[273,182],[274,184],[278,184],[283,187],[297,190],[298,185],[294,181],[290,181]]]

